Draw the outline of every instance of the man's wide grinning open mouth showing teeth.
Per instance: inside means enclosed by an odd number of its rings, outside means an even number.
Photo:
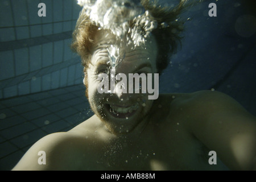
[[[139,108],[138,103],[131,106],[119,106],[113,104],[106,104],[105,106],[113,117],[123,119],[129,119],[129,117],[131,117],[131,115],[133,115]]]

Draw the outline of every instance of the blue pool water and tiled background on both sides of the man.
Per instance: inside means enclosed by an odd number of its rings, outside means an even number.
[[[80,58],[68,46],[81,7],[76,1],[40,2],[46,4],[46,17],[38,17],[39,1],[0,2],[2,170],[11,169],[36,140],[93,114],[84,96]],[[211,2],[217,17],[208,15]],[[256,115],[256,35],[246,37],[246,30],[255,28],[251,2],[205,1],[185,11],[182,47],[160,76],[159,92],[214,89]]]

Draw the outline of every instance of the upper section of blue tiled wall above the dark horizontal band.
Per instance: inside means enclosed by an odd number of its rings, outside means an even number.
[[[46,17],[38,16],[38,4],[46,4]],[[57,29],[71,31],[79,15],[80,7],[76,1],[67,0],[5,0],[0,2],[0,30],[8,32],[13,30],[13,36],[8,37],[0,34],[1,42],[30,38],[34,31],[31,26],[40,27],[39,36],[53,34],[54,24],[58,23]],[[40,26],[39,26],[40,25]],[[29,30],[29,31],[27,31]],[[34,29],[35,30],[35,29]],[[60,31],[60,30],[59,30]]]

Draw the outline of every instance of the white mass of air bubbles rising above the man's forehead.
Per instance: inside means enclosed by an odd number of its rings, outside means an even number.
[[[151,31],[157,27],[157,22],[139,0],[78,0],[77,3],[84,7],[86,15],[100,30],[111,31],[117,40],[131,48],[144,45]],[[130,20],[133,26],[130,26]],[[122,60],[119,48],[112,46],[108,51],[112,66]]]

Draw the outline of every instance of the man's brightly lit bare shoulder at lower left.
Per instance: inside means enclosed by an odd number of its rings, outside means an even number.
[[[24,154],[13,170],[61,170],[71,153],[72,142],[77,138],[72,133],[53,133],[38,140]],[[40,158],[42,156],[42,158]]]

